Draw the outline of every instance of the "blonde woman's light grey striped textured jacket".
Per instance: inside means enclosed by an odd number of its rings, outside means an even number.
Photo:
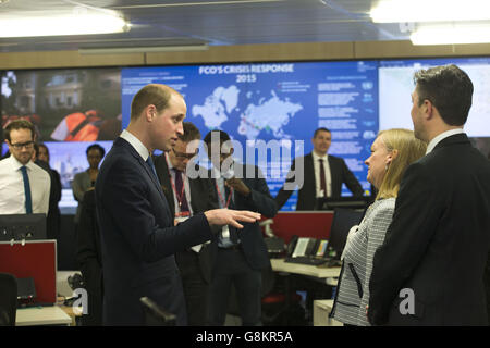
[[[366,212],[357,231],[348,235],[344,249],[342,277],[333,318],[342,323],[368,326],[366,306],[369,303],[369,279],[376,250],[393,217],[394,198],[375,201]]]

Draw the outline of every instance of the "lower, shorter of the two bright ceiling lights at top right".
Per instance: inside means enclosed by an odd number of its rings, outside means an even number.
[[[490,42],[490,26],[421,27],[411,35],[414,45],[457,45]]]

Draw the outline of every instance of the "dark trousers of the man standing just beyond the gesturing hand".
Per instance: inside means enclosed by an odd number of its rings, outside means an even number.
[[[261,325],[261,271],[248,265],[240,248],[218,248],[209,288],[209,324],[224,324],[232,285],[236,293],[242,325]]]

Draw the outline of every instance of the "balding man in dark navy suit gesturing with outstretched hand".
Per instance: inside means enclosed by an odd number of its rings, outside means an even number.
[[[103,323],[143,325],[142,297],[176,324],[186,324],[182,282],[174,253],[213,238],[210,225],[243,227],[259,214],[209,210],[174,226],[151,153],[169,151],[183,135],[184,98],[166,85],[147,85],[133,98],[131,121],[114,141],[96,183],[103,268]]]

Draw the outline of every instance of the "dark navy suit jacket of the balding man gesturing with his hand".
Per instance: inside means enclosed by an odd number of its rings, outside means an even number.
[[[148,164],[118,138],[96,183],[103,266],[103,322],[143,325],[139,299],[152,299],[184,325],[185,302],[174,253],[212,237],[204,214],[173,226],[160,183]]]

